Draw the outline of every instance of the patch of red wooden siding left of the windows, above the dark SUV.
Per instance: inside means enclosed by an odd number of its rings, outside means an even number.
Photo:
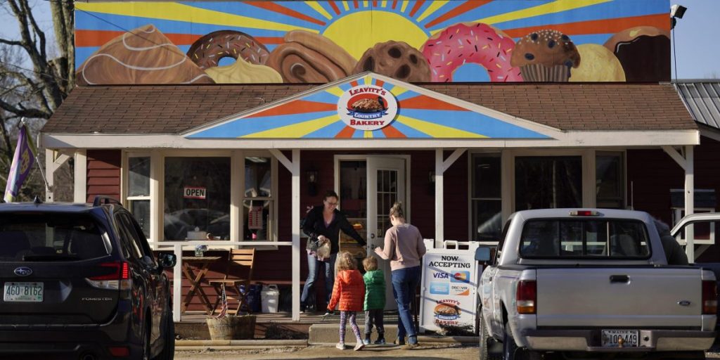
[[[96,195],[120,200],[120,150],[87,150],[87,202]]]

